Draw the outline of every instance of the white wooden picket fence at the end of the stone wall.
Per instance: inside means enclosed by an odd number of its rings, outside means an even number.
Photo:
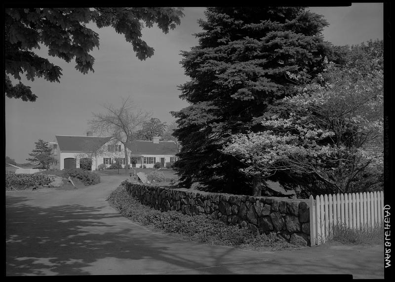
[[[363,192],[310,196],[310,243],[324,243],[333,226],[361,230],[374,227],[384,220],[384,193]]]

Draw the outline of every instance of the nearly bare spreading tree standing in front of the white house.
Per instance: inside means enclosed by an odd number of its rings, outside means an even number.
[[[92,113],[93,119],[88,122],[90,128],[99,135],[107,134],[113,140],[118,140],[123,144],[125,155],[125,173],[128,173],[128,153],[126,144],[134,141],[136,132],[141,128],[145,120],[151,114],[138,109],[130,97],[121,98],[120,107],[112,104],[104,104],[105,113]]]

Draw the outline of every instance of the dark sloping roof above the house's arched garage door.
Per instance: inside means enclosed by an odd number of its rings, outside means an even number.
[[[95,151],[112,139],[111,136],[98,137],[56,135],[55,137],[59,146],[59,150],[79,152]]]

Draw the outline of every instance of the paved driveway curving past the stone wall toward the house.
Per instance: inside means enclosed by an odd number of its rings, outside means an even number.
[[[384,278],[384,248],[338,245],[277,252],[210,246],[153,233],[105,200],[121,182],[6,192],[6,275],[352,274]]]

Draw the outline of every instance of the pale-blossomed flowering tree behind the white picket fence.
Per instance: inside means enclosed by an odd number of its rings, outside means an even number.
[[[287,72],[300,84],[298,94],[276,102],[261,121],[263,131],[234,135],[224,146],[246,164],[243,173],[287,174],[304,196],[357,191],[367,171],[382,173],[383,71],[325,63],[308,85],[306,74]]]

